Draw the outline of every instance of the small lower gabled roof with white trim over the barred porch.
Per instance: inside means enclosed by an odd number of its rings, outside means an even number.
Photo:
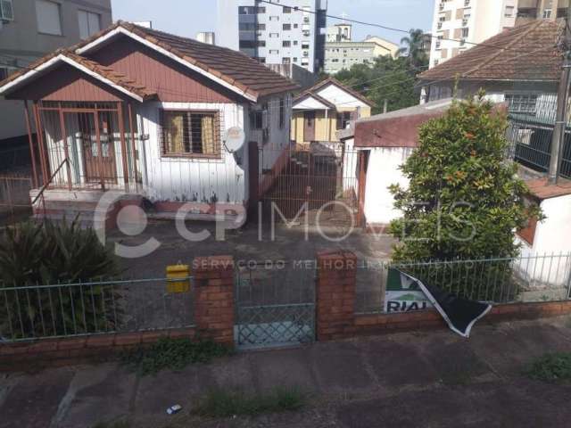
[[[139,102],[156,96],[154,91],[137,84],[134,80],[112,70],[110,67],[105,67],[95,61],[87,60],[87,58],[62,49],[46,55],[36,62],[31,63],[27,69],[14,73],[9,78],[4,79],[4,81],[0,82],[0,95],[10,91],[12,88],[21,86],[22,83],[29,79],[37,78],[38,75],[41,75],[44,71],[51,70],[54,66],[63,62],[103,82],[103,84],[107,86],[112,86],[114,89]]]

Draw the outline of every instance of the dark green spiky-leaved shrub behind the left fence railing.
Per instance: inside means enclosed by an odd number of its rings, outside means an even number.
[[[0,237],[0,289],[107,281],[117,274],[112,252],[77,221],[21,223]],[[112,284],[4,290],[0,335],[17,339],[112,330],[120,321],[118,300]]]

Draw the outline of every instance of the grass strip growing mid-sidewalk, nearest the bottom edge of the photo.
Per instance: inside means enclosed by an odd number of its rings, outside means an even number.
[[[211,390],[193,409],[200,416],[257,416],[298,410],[307,403],[307,395],[298,388],[276,388],[263,394],[244,391]]]

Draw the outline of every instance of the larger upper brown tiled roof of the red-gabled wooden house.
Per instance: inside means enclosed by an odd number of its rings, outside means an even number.
[[[14,73],[0,82],[0,92],[5,91],[6,86],[9,86],[11,82],[19,78],[26,78],[29,76],[29,72],[33,73],[35,69],[52,60],[57,54],[64,54],[70,58],[73,55],[77,62],[84,65],[89,63],[91,68],[103,71],[108,77],[120,78],[119,73],[114,72],[111,68],[103,67],[103,65],[87,60],[85,57],[87,53],[110,43],[114,37],[119,35],[131,37],[253,102],[256,102],[261,96],[290,92],[298,87],[292,80],[269,70],[244,53],[225,47],[203,44],[190,38],[178,37],[156,29],[146,29],[125,21],[118,21],[78,45],[46,55],[29,66],[29,69],[32,70],[21,70]],[[122,79],[122,83],[128,83],[128,78],[122,76]],[[145,90],[143,86],[138,86],[135,82],[131,83],[139,87],[140,91]]]

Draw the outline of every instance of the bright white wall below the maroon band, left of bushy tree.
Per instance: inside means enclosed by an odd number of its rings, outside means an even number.
[[[368,158],[367,185],[365,186],[365,217],[368,224],[388,224],[401,217],[401,211],[393,206],[390,185],[408,187],[409,180],[399,167],[409,158],[412,148],[371,148]]]

